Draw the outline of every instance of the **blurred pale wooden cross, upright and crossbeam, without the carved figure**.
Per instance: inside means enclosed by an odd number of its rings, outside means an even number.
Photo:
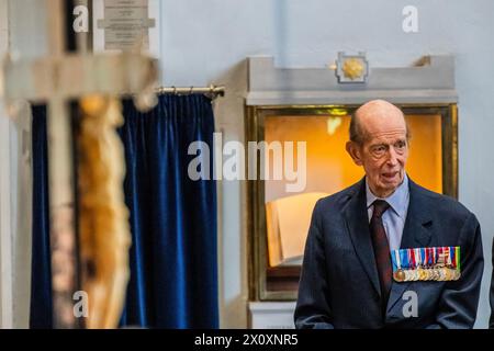
[[[55,328],[80,328],[74,293],[80,288],[77,238],[77,174],[70,102],[90,94],[148,98],[157,80],[156,60],[141,54],[77,55],[67,53],[65,34],[71,1],[48,5],[49,57],[7,59],[0,67],[0,98],[47,104],[52,286]],[[71,9],[69,9],[71,10]],[[144,99],[146,101],[146,99]],[[150,107],[150,106],[148,106]],[[36,191],[36,190],[34,190]]]

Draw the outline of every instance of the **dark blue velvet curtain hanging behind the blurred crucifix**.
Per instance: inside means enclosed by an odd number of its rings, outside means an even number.
[[[188,176],[189,145],[204,141],[213,165],[214,116],[203,95],[161,95],[139,113],[123,101],[131,280],[122,326],[217,328],[216,189]],[[50,327],[45,112],[33,109],[31,326]],[[43,129],[43,131],[42,131]],[[38,150],[35,150],[35,148]],[[44,152],[41,149],[44,149]],[[206,155],[206,154],[204,154]],[[213,167],[211,167],[213,169]]]

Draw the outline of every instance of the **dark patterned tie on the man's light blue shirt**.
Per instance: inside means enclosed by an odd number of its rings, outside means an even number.
[[[370,222],[372,246],[374,248],[375,263],[378,264],[379,282],[381,284],[382,310],[385,315],[388,298],[390,297],[393,268],[391,265],[390,245],[382,225],[382,215],[390,208],[390,204],[382,200],[375,200],[374,211]]]

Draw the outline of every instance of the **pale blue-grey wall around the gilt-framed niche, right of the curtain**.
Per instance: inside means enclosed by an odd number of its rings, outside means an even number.
[[[402,31],[402,9],[418,9],[419,32]],[[494,234],[494,2],[492,0],[162,0],[166,86],[226,84],[217,128],[244,139],[243,97],[249,55],[280,67],[324,67],[337,52],[366,50],[371,66],[407,66],[423,55],[457,57],[460,201],[482,225],[485,274],[479,327],[485,327]],[[222,326],[246,326],[245,184],[221,184]]]

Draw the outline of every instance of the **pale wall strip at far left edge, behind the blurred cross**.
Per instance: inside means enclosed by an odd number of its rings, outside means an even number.
[[[0,1],[0,59],[46,53],[45,0]],[[31,290],[31,112],[8,120],[0,103],[0,245],[2,328],[29,326]]]

